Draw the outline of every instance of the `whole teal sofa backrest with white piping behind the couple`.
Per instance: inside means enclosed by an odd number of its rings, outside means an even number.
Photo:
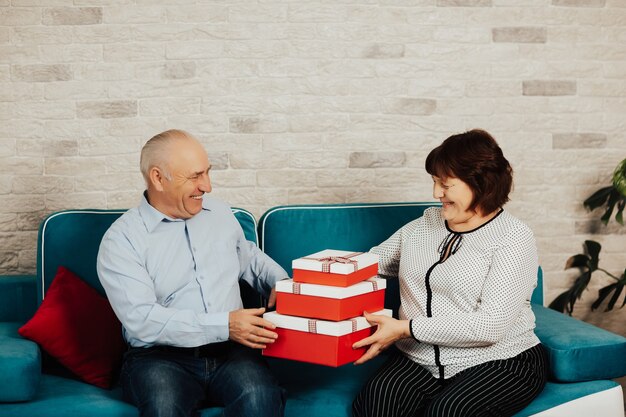
[[[240,208],[232,208],[246,239],[260,245],[291,275],[291,261],[322,249],[367,251],[437,203],[325,204],[280,206],[257,222]],[[37,304],[41,303],[59,266],[65,266],[104,294],[96,273],[102,236],[125,210],[66,210],[53,213],[39,227],[37,244]],[[532,301],[542,304],[541,270]],[[394,306],[398,288],[390,281],[387,305]],[[242,285],[247,307],[260,298]]]

